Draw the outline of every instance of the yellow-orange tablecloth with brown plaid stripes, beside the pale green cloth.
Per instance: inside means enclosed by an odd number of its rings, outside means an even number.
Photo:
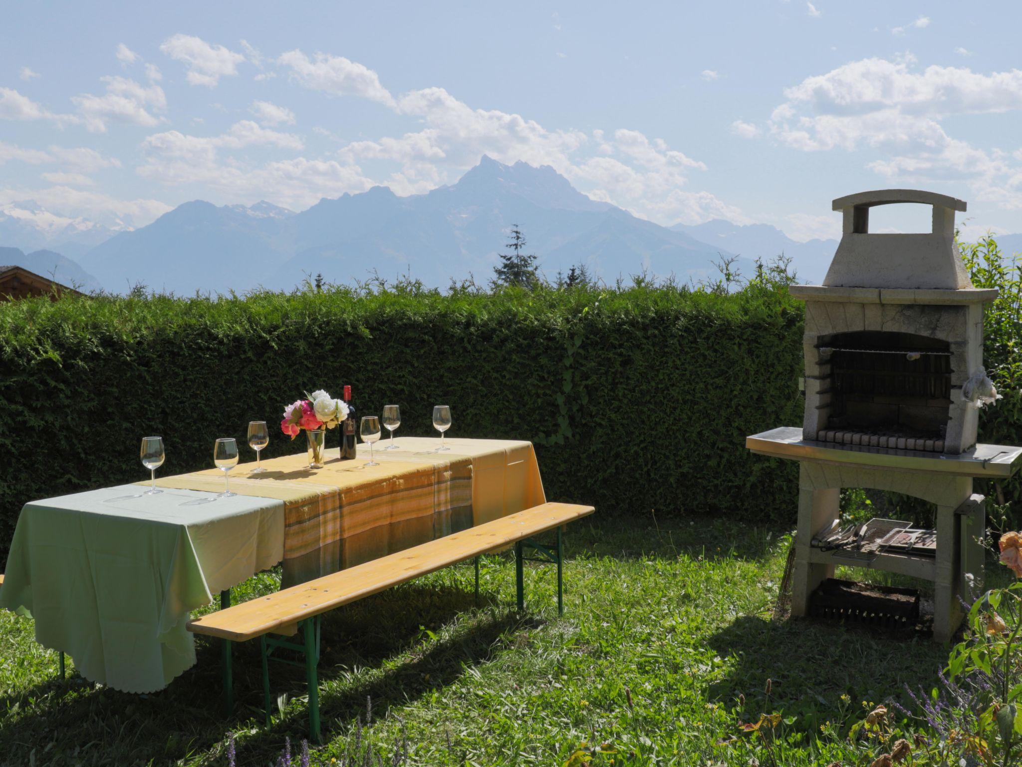
[[[265,460],[262,473],[251,473],[254,463],[239,464],[230,486],[239,495],[284,501],[284,587],[546,500],[531,444],[446,442],[445,452],[435,451],[435,439],[399,438],[392,451],[380,443],[378,466],[366,465],[366,445],[347,461],[328,449],[320,469],[308,467],[306,453]],[[220,493],[224,475],[213,468],[156,484]]]

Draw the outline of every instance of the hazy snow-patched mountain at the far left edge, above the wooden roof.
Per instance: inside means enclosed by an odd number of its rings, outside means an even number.
[[[25,252],[49,249],[78,258],[126,228],[62,216],[31,199],[0,206],[0,245]]]

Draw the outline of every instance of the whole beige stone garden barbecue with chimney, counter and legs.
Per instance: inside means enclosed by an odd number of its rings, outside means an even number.
[[[933,207],[924,234],[871,234],[875,206]],[[1022,449],[977,445],[983,389],[983,304],[955,246],[960,199],[913,189],[840,197],[843,234],[822,285],[796,285],[805,302],[802,427],[753,435],[756,453],[800,461],[792,614],[835,565],[871,567],[934,582],[934,636],[961,621],[966,582],[982,583],[983,497],[973,477],[1010,477]],[[868,562],[814,545],[838,517],[840,489],[891,490],[936,505],[936,554],[884,551]],[[817,541],[819,544],[819,540]],[[968,577],[967,577],[968,576]]]

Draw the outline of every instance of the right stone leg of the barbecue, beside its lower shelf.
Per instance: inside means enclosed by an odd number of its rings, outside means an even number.
[[[972,478],[957,478],[947,503],[937,504],[937,556],[933,574],[933,638],[951,639],[962,623],[962,520],[959,506],[972,496]]]

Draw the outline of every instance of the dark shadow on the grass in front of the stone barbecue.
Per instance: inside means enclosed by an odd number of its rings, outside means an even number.
[[[842,694],[849,696],[852,720],[861,719],[863,701],[907,703],[904,685],[930,689],[947,662],[947,648],[928,639],[887,638],[879,629],[815,619],[740,617],[714,634],[710,645],[734,659],[733,671],[710,685],[711,700],[730,708],[744,694],[745,721],[781,711],[797,717],[794,727],[810,735],[834,720]]]

